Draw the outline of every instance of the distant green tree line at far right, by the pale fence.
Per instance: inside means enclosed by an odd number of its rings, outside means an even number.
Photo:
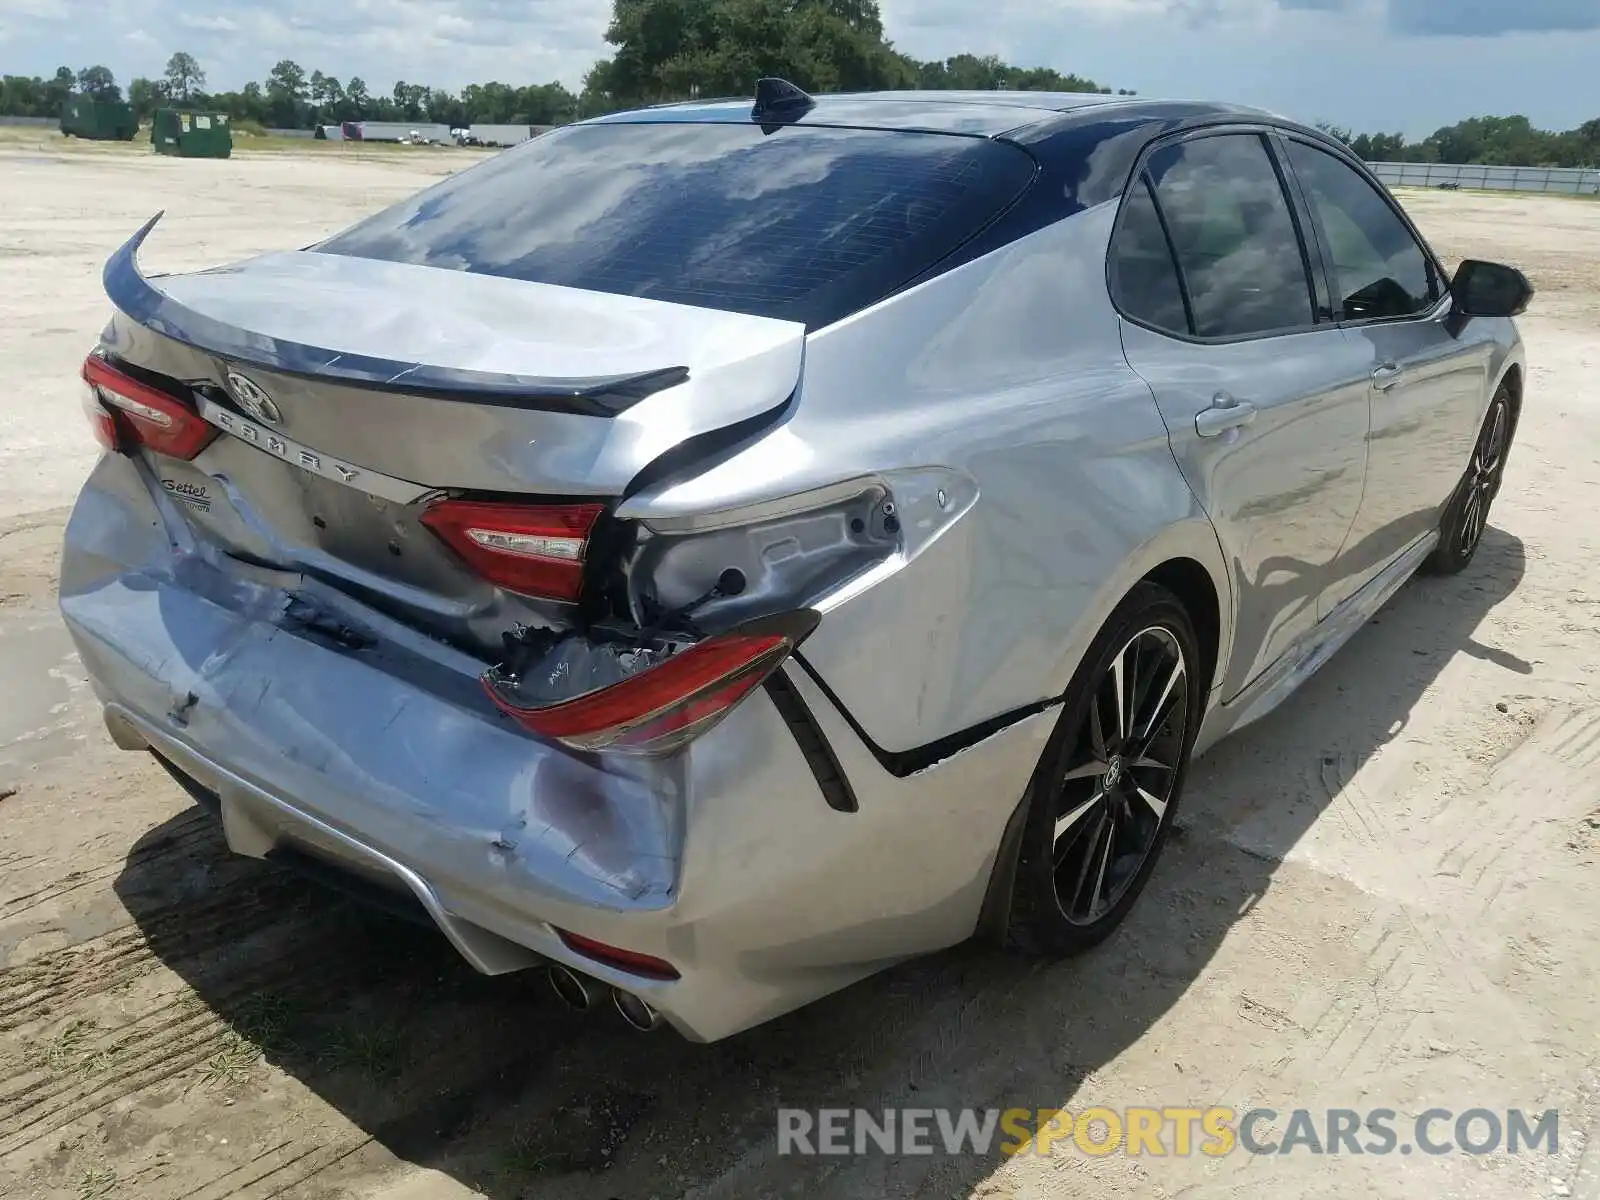
[[[1323,125],[1370,163],[1450,163],[1501,166],[1600,166],[1600,117],[1576,130],[1534,128],[1526,117],[1469,117],[1419,142],[1398,133],[1350,133]]]

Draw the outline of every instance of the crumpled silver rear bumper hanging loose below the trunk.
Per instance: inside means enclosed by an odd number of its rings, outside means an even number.
[[[410,894],[477,970],[562,962],[693,1040],[973,931],[1048,717],[898,779],[787,672],[856,784],[853,813],[829,806],[762,693],[685,754],[602,766],[496,712],[482,662],[174,547],[160,502],[128,459],[99,464],[67,526],[61,611],[114,738],[214,794],[235,851]],[[322,600],[360,635],[309,621]],[[560,930],[680,978],[578,955]]]

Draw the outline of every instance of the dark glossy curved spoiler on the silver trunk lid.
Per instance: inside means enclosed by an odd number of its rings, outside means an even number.
[[[139,246],[165,210],[146,221],[106,261],[106,294],[118,312],[147,330],[221,355],[285,374],[331,379],[350,387],[373,387],[437,400],[464,400],[506,408],[538,408],[581,416],[616,416],[640,400],[677,387],[690,378],[688,366],[664,366],[635,374],[587,379],[547,379],[493,371],[469,371],[429,363],[408,363],[344,354],[322,346],[283,341],[251,333],[206,317],[165,294],[139,270]]]

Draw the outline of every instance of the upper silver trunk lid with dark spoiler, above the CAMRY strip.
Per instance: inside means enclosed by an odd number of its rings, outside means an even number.
[[[315,251],[146,280],[150,226],[107,264],[107,350],[248,416],[238,371],[277,432],[429,488],[619,494],[800,378],[798,322]]]

